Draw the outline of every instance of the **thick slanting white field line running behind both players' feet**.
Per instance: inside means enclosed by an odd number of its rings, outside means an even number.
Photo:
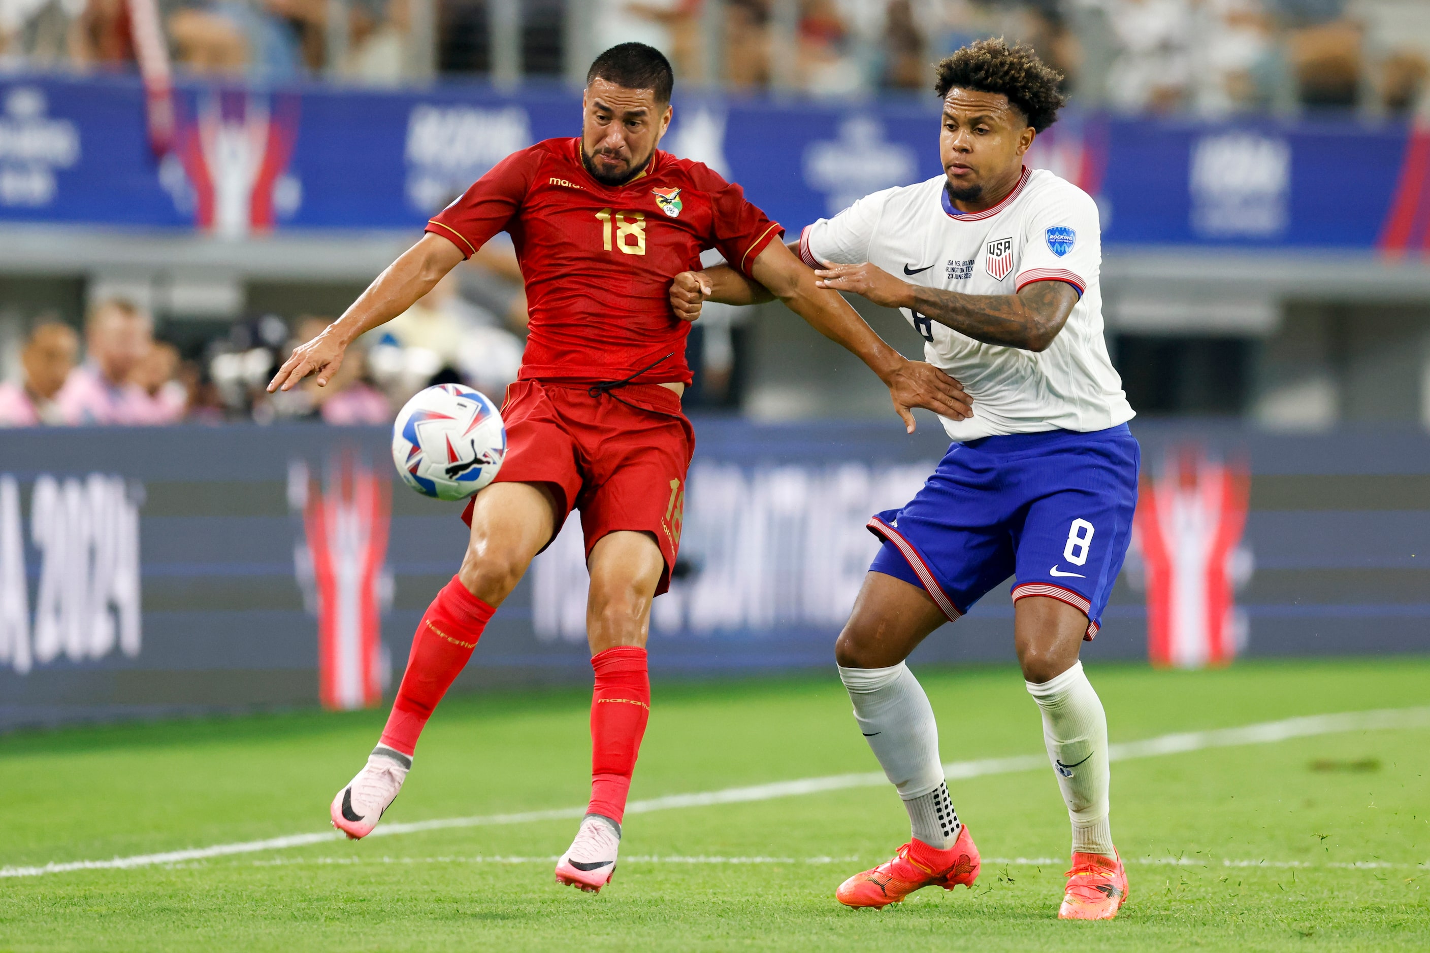
[[[1430,707],[1417,709],[1380,709],[1374,712],[1346,712],[1341,714],[1311,714],[1298,719],[1283,719],[1280,722],[1261,722],[1258,724],[1244,724],[1233,729],[1213,729],[1208,732],[1181,732],[1177,734],[1160,734],[1141,742],[1124,742],[1108,746],[1108,757],[1123,762],[1138,757],[1155,757],[1158,754],[1181,754],[1200,752],[1211,747],[1236,747],[1241,744],[1268,744],[1296,737],[1313,737],[1317,734],[1336,734],[1341,732],[1366,732],[1377,729],[1409,729],[1430,726]],[[1042,754],[1020,754],[1015,757],[990,757],[974,762],[951,762],[944,764],[944,774],[950,780],[965,780],[970,777],[985,777],[990,774],[1008,774],[1014,772],[1028,772],[1047,766]],[[691,794],[666,794],[665,797],[651,797],[626,804],[628,814],[644,814],[652,810],[671,810],[675,807],[708,807],[712,804],[739,804],[776,797],[795,797],[799,794],[815,794],[819,792],[845,790],[849,787],[875,787],[887,784],[881,772],[867,772],[858,774],[831,774],[827,777],[805,777],[792,782],[775,782],[772,784],[754,784],[749,787],[726,787],[714,792],[698,792]],[[440,817],[435,820],[418,820],[399,824],[383,824],[368,837],[393,837],[398,834],[415,834],[428,830],[450,830],[456,827],[490,827],[500,824],[525,824],[541,820],[569,820],[583,816],[582,807],[556,807],[552,810],[529,810],[515,814],[483,814],[478,817]],[[74,870],[124,870],[130,867],[150,867],[157,864],[184,863],[189,860],[207,860],[209,857],[226,857],[232,854],[260,853],[266,850],[286,850],[289,847],[306,847],[309,844],[342,840],[343,834],[336,830],[310,834],[289,834],[286,837],[267,837],[265,840],[246,840],[232,844],[213,844],[209,847],[192,847],[187,850],[167,850],[164,853],[134,854],[130,857],[112,857],[109,860],[67,860],[50,862],[39,867],[0,867],[0,877],[36,877],[47,873],[70,873]],[[1058,862],[1061,863],[1061,862]],[[1254,863],[1254,862],[1250,862]]]

